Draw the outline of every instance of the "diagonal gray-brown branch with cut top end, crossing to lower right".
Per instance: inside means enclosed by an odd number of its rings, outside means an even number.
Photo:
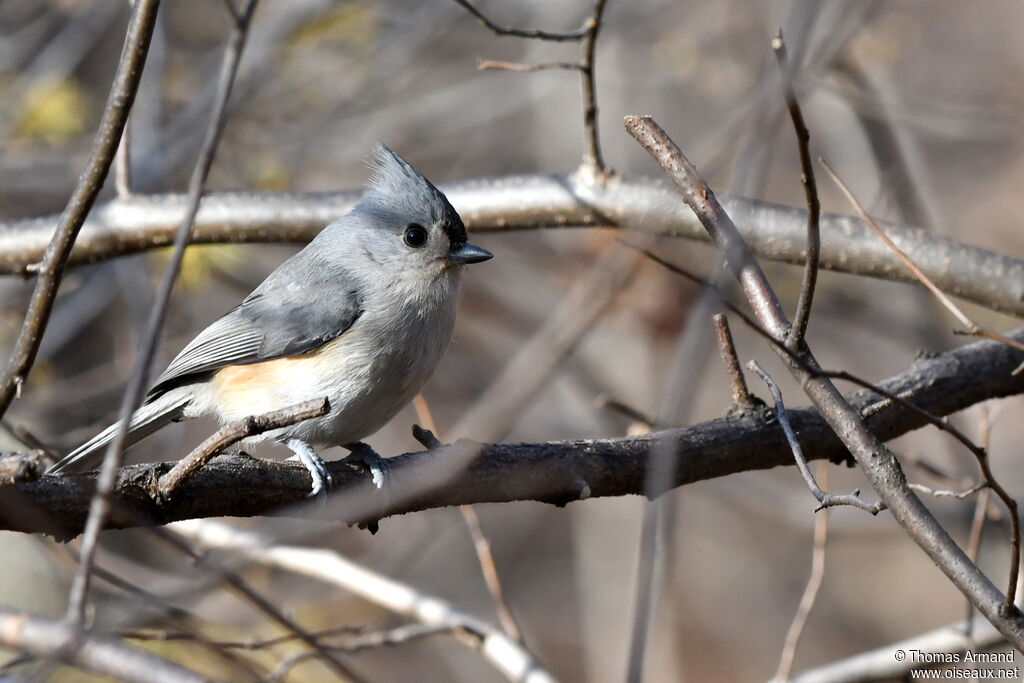
[[[790,325],[778,298],[754,259],[750,247],[715,199],[711,188],[652,119],[627,117],[626,127],[658,161],[669,178],[680,189],[685,203],[723,252],[761,325],[772,337],[783,339],[788,333]],[[847,445],[893,517],[961,592],[970,597],[975,606],[1011,642],[1024,648],[1024,614],[1014,607],[1008,596],[999,593],[913,492],[906,487],[903,471],[892,452],[867,428],[828,378],[807,372],[784,352],[779,351],[779,354],[822,417]],[[805,351],[805,355],[808,364],[816,362],[809,350]],[[982,467],[984,469],[984,465]],[[1019,562],[1019,546],[1014,551],[1016,567]],[[1008,592],[1015,589],[1016,574],[1011,580]]]

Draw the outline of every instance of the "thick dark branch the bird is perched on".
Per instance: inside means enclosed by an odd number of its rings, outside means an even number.
[[[1024,328],[1011,333],[1024,339]],[[1024,392],[1024,376],[1011,372],[1022,354],[983,341],[921,360],[904,373],[881,382],[894,393],[912,392],[913,401],[938,415],[974,403]],[[848,395],[857,409],[879,402],[870,391]],[[810,460],[844,462],[847,450],[813,409],[788,411],[790,421]],[[916,429],[925,418],[899,405],[874,413],[868,426],[883,439]],[[651,454],[671,447],[678,458],[674,486],[736,472],[792,465],[793,454],[782,430],[751,416],[727,417],[689,427],[628,438],[489,444],[459,442],[436,451],[390,458],[393,503],[383,516],[471,503],[540,501],[565,504],[581,497],[643,494]],[[423,489],[449,459],[469,453],[466,467],[436,487]],[[477,453],[478,451],[478,453]],[[108,525],[164,524],[196,517],[255,516],[275,512],[312,515],[302,504],[309,476],[296,463],[221,456],[199,470],[169,503],[161,503],[157,480],[173,463],[122,468],[115,488],[115,511]],[[379,493],[366,473],[342,462],[329,463],[335,488],[323,514],[348,522],[366,521],[378,510]],[[9,470],[11,472],[15,469]],[[0,481],[0,528],[45,532],[69,539],[82,531],[95,472],[38,476]]]

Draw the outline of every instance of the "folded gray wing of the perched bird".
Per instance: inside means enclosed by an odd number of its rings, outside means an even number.
[[[300,252],[239,306],[201,332],[150,389],[148,400],[182,380],[223,368],[312,351],[348,330],[362,312],[355,281]]]

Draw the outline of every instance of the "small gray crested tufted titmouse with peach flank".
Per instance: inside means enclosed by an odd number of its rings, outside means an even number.
[[[132,416],[126,445],[169,422],[212,416],[228,423],[327,396],[324,417],[243,444],[287,445],[309,470],[310,496],[330,485],[313,445],[366,455],[359,439],[408,403],[443,355],[462,266],[492,257],[467,244],[444,195],[401,157],[378,143],[370,162],[373,176],[355,208],[171,361]],[[99,455],[116,429],[50,471]]]

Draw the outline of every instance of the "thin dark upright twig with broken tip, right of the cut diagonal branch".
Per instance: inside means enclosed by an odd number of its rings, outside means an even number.
[[[775,59],[778,61],[778,70],[782,76],[782,89],[785,93],[786,106],[790,110],[790,119],[793,120],[793,128],[797,133],[802,169],[800,181],[804,184],[804,194],[807,196],[807,263],[804,265],[804,278],[800,283],[800,298],[797,300],[797,312],[793,316],[793,329],[790,330],[790,336],[786,339],[790,348],[797,349],[800,348],[804,342],[804,336],[807,334],[807,324],[811,319],[811,305],[814,301],[814,288],[818,281],[818,262],[821,259],[819,225],[821,202],[818,200],[818,186],[814,181],[814,166],[811,164],[811,135],[807,130],[807,124],[804,123],[804,114],[793,88],[794,72],[787,65],[788,57],[781,29],[772,40],[771,47],[775,51]]]

